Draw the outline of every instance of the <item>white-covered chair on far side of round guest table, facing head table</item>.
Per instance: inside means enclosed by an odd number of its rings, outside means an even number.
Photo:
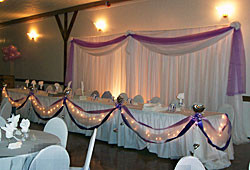
[[[58,117],[50,119],[44,129],[44,132],[56,135],[61,140],[61,145],[66,148],[68,139],[68,128],[66,123]]]

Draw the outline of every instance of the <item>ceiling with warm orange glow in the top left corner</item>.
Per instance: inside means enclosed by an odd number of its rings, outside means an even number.
[[[98,1],[100,2],[100,0],[5,0],[0,3],[0,23]]]

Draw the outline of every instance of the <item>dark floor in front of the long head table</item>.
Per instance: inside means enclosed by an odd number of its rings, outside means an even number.
[[[42,130],[43,125],[33,124],[31,129]],[[90,137],[69,133],[67,151],[71,166],[83,166]],[[247,170],[250,162],[250,143],[234,145],[235,160],[225,170]],[[173,170],[178,160],[158,158],[145,150],[132,150],[96,140],[91,160],[92,170]]]

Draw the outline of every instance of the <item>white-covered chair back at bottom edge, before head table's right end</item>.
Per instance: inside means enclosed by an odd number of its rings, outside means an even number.
[[[178,161],[174,170],[205,170],[205,167],[198,158],[185,156]]]

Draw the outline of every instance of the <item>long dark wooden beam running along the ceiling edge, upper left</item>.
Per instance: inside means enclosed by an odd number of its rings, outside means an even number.
[[[112,4],[115,4],[115,3],[121,3],[121,2],[126,2],[126,1],[133,1],[133,0],[109,0],[109,3],[112,5]],[[106,6],[105,3],[106,3],[106,0],[105,1],[102,0],[102,1],[97,1],[97,2],[90,2],[90,3],[77,5],[77,6],[73,6],[73,7],[69,7],[69,8],[64,8],[64,9],[59,9],[59,10],[55,10],[55,11],[45,12],[45,13],[37,14],[37,15],[32,15],[32,16],[29,16],[29,17],[14,19],[14,20],[10,20],[10,21],[0,23],[0,28],[8,26],[8,25],[12,25],[12,24],[28,22],[28,21],[31,21],[31,20],[37,20],[37,19],[40,19],[40,18],[51,17],[51,16],[55,16],[55,15],[59,15],[59,14],[68,13],[68,12],[74,12],[74,11],[94,8],[94,7],[98,7],[98,6]]]

